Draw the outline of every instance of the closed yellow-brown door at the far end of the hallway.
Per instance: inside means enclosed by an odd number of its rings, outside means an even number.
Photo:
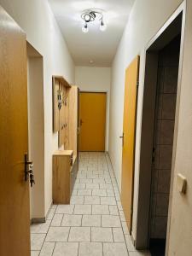
[[[105,151],[106,93],[80,92],[79,151]]]

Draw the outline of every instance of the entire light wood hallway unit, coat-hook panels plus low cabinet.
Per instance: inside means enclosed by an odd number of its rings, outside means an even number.
[[[53,129],[58,150],[53,155],[53,202],[69,204],[79,169],[79,88],[53,77]]]

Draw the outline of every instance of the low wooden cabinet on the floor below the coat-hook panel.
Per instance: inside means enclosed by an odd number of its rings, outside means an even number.
[[[53,203],[69,204],[78,172],[73,150],[58,150],[53,155]]]

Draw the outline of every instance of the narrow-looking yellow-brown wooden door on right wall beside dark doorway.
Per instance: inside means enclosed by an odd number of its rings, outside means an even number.
[[[139,56],[125,73],[121,201],[131,232]]]

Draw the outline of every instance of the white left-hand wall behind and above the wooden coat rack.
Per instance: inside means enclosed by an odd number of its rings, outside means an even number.
[[[47,0],[0,0],[0,4],[26,32],[27,41],[44,57],[44,214],[52,202],[52,154],[58,148],[52,132],[52,75],[74,83],[73,59]]]

